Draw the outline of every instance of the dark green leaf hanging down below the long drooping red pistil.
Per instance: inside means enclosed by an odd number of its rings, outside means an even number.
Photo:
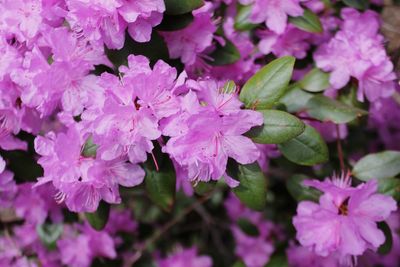
[[[175,201],[175,173],[146,169],[144,179],[150,199],[165,211],[171,211]]]

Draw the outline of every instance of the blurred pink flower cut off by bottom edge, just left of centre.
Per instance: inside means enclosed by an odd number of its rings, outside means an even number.
[[[208,256],[198,256],[196,248],[181,249],[167,258],[157,261],[159,267],[211,267],[212,260]]]

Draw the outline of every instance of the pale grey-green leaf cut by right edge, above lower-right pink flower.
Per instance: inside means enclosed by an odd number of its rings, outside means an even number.
[[[400,173],[400,152],[369,154],[354,165],[352,173],[362,181],[394,177]]]

